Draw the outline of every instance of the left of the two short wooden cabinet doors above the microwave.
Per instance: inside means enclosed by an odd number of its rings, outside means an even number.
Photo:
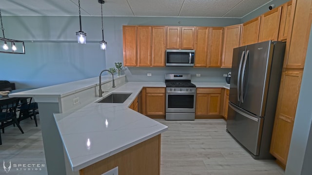
[[[180,27],[167,27],[167,49],[180,48]]]

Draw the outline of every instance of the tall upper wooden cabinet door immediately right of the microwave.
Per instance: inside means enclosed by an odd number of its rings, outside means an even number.
[[[195,67],[207,67],[209,27],[196,27]]]

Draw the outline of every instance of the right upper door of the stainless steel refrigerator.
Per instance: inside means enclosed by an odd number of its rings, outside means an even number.
[[[264,117],[272,51],[271,41],[248,45],[242,66],[240,107],[258,117]]]

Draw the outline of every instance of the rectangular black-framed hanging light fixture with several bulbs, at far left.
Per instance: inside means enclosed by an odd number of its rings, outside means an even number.
[[[0,21],[1,21],[1,30],[2,30],[2,35],[3,35],[3,38],[0,38],[0,41],[3,41],[3,45],[2,45],[2,47],[0,47],[0,53],[25,54],[25,48],[24,48],[24,42],[23,41],[5,38],[4,28],[3,28],[3,23],[2,23],[1,10],[0,10]],[[9,43],[9,45],[11,45],[11,49],[9,49],[8,43]],[[18,49],[18,48],[21,48],[21,49]]]

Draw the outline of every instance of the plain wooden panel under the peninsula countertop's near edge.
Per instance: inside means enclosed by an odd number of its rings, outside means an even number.
[[[118,175],[160,175],[160,135],[79,170],[79,175],[102,175],[118,166]]]

